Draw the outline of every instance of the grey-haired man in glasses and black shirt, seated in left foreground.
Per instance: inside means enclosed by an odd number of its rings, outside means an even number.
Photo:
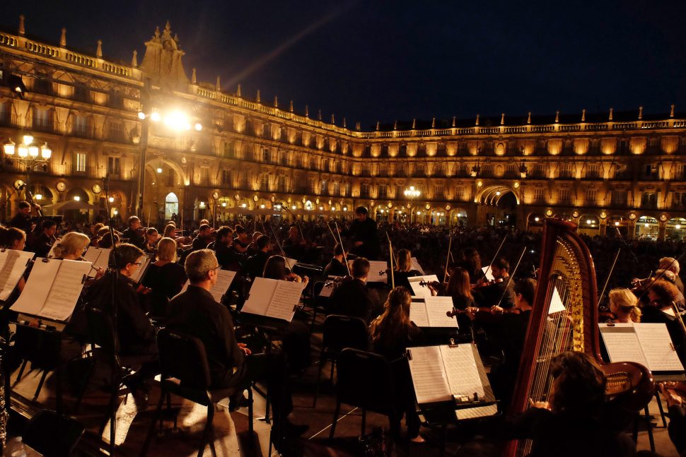
[[[209,293],[216,284],[220,268],[214,252],[209,249],[200,249],[188,255],[185,271],[190,285],[170,302],[167,327],[202,340],[213,389],[240,386],[248,379],[267,374],[274,421],[283,421],[281,424],[275,423],[274,429],[279,428],[291,435],[302,434],[307,427],[292,425],[287,419],[293,403],[289,385],[286,383],[284,386],[283,383],[283,357],[277,351],[272,351],[270,355],[253,355],[247,345],[238,343],[231,314]],[[242,395],[240,393],[231,399],[232,409]]]

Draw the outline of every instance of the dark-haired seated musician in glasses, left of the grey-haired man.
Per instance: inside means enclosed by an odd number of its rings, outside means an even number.
[[[127,387],[137,402],[145,403],[150,390],[146,379],[158,374],[159,364],[155,328],[139,304],[135,284],[130,279],[140,268],[143,255],[143,251],[133,244],[122,243],[115,247],[110,254],[110,265],[116,265],[119,274],[107,271],[103,278],[88,287],[85,298],[89,306],[102,309],[112,318],[116,307],[115,326],[122,355],[135,355],[145,360],[136,374],[127,376]]]

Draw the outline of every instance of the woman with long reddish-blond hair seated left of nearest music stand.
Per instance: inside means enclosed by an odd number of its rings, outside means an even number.
[[[422,330],[409,320],[412,295],[405,287],[395,287],[383,304],[383,314],[369,326],[371,350],[383,355],[393,369],[397,410],[405,413],[407,436],[414,443],[424,442],[419,435],[419,415],[414,405],[414,388],[405,350],[423,343]]]

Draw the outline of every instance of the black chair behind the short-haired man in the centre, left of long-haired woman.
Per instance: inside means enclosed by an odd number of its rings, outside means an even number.
[[[322,334],[322,350],[319,354],[319,372],[317,374],[317,388],[313,408],[317,406],[319,386],[322,380],[322,368],[326,360],[331,362],[330,380],[334,379],[334,367],[338,355],[345,348],[366,350],[369,345],[367,323],[359,317],[331,314],[324,319]]]

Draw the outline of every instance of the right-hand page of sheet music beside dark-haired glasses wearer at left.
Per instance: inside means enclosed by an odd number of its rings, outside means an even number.
[[[63,260],[39,316],[53,321],[69,319],[83,289],[83,275],[88,275],[88,271],[91,271],[88,262]]]

